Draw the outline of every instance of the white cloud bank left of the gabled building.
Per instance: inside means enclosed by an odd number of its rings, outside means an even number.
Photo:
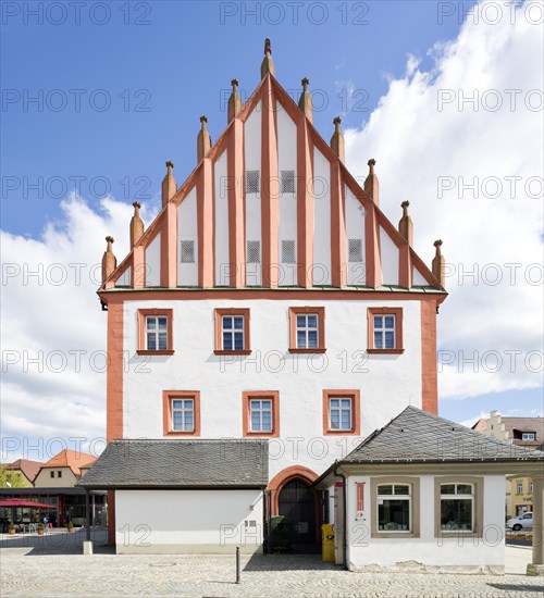
[[[96,289],[103,239],[113,235],[118,258],[127,253],[133,209],[107,198],[97,213],[75,195],[61,208],[63,217],[40,239],[1,232],[7,460],[48,459],[62,448],[48,446],[55,437],[84,438],[81,447],[88,450],[104,435],[107,314]],[[154,215],[146,207],[141,213],[147,222]],[[77,443],[67,440],[66,448],[76,450]]]

